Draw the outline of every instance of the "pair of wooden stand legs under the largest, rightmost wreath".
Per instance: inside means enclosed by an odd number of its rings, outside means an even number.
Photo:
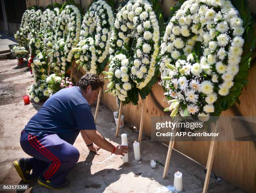
[[[216,122],[216,124],[214,125],[214,133],[217,131],[217,128],[218,128],[218,124]],[[169,142],[168,152],[167,152],[166,161],[165,161],[165,165],[164,165],[164,173],[163,173],[163,178],[164,179],[167,176],[167,172],[168,172],[168,168],[169,168],[169,163],[170,163],[170,159],[171,159],[171,155],[172,155],[172,149],[174,147],[176,130],[177,130],[177,128],[175,127],[174,128],[174,136],[172,136],[170,138],[170,142]],[[213,163],[215,147],[216,147],[215,138],[216,137],[212,137],[212,140],[211,140],[211,143],[210,143],[210,149],[209,149],[208,158],[207,158],[207,165],[206,165],[207,172],[206,172],[206,175],[205,175],[205,183],[204,183],[203,193],[207,193],[207,189],[208,189],[209,182],[210,182],[210,174],[211,174],[211,171],[212,171],[212,163]]]

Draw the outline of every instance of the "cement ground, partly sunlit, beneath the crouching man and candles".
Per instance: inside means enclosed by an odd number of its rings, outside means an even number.
[[[32,84],[33,78],[28,67],[17,66],[16,59],[0,61],[0,184],[25,184],[13,168],[13,161],[21,157],[29,157],[20,147],[20,131],[43,104],[31,102],[29,105],[24,105],[22,96],[27,94],[27,89]],[[92,105],[92,112],[94,114],[95,104]],[[115,145],[121,143],[121,137],[115,137],[113,113],[104,104],[100,105],[97,130],[111,143]],[[128,127],[120,128],[120,134],[122,133],[127,133],[130,147],[129,163],[126,164],[123,164],[118,155],[106,160],[110,157],[110,152],[102,149],[99,150],[100,155],[89,152],[79,135],[74,146],[79,150],[80,158],[67,177],[71,185],[59,192],[159,193],[163,192],[161,188],[173,185],[176,171],[183,173],[183,192],[202,192],[205,179],[204,167],[173,151],[168,178],[163,179],[164,167],[159,165],[156,169],[152,169],[150,160],[158,160],[164,164],[168,147],[145,138],[141,144],[141,160],[135,161],[132,144],[138,139],[138,134],[131,132]],[[135,177],[137,173],[142,175]],[[29,183],[29,186],[26,192],[54,192],[38,185],[36,179]],[[208,192],[242,193],[243,191],[225,180],[218,183],[215,178],[211,178]]]

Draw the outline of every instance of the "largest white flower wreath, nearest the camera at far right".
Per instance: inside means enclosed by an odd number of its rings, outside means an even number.
[[[171,116],[215,113],[214,103],[229,94],[239,71],[242,25],[229,0],[188,0],[171,18],[160,64]]]

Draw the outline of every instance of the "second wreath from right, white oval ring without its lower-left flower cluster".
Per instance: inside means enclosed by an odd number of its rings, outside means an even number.
[[[131,0],[117,14],[110,39],[110,59],[116,53],[128,51],[128,42],[136,45],[130,55],[131,79],[143,89],[155,74],[159,53],[159,25],[152,5],[147,0]],[[132,51],[131,51],[132,52]]]

